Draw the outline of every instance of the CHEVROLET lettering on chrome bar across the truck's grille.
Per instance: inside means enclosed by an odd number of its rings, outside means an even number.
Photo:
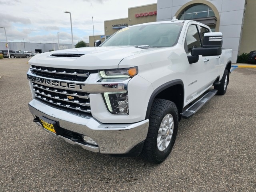
[[[58,87],[58,88],[69,88],[74,90],[84,90],[86,84],[78,84],[78,83],[71,83],[71,82],[63,82],[58,80],[50,80],[50,79],[44,79],[39,77],[34,77],[31,75],[27,75],[28,80],[32,82],[37,82],[39,84],[45,84],[47,86],[51,87]]]

